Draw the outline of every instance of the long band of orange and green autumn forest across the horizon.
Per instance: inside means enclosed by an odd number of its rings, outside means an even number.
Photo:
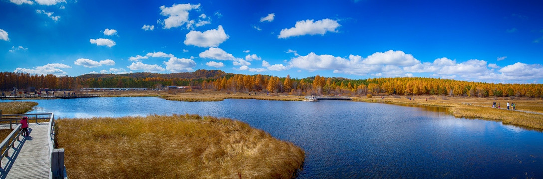
[[[439,95],[467,97],[543,98],[543,84],[468,82],[428,77],[349,79],[314,76],[306,78],[230,74],[221,70],[196,70],[174,74],[86,74],[77,77],[0,72],[0,89],[13,87],[78,90],[83,87],[146,87],[198,85],[204,90],[271,92],[292,95]]]

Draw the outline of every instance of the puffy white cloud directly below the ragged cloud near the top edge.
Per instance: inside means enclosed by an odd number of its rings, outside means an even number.
[[[218,47],[220,43],[229,38],[224,33],[223,26],[219,25],[217,29],[211,29],[204,32],[190,31],[185,36],[185,45],[194,45],[197,47]]]

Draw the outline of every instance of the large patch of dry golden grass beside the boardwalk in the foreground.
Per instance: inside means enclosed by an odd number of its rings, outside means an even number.
[[[61,119],[71,178],[292,178],[305,152],[248,124],[197,115]]]

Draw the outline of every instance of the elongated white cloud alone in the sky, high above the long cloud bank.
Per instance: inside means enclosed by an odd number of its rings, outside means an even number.
[[[322,19],[317,22],[313,20],[298,21],[293,28],[283,29],[279,34],[279,38],[289,38],[302,35],[324,35],[326,32],[337,32],[339,23],[332,19]]]

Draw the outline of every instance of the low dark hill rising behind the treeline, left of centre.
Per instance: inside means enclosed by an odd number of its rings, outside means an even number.
[[[157,74],[151,72],[134,72],[130,74],[85,74],[77,76],[79,78],[114,78],[114,77],[130,77],[130,78],[148,78],[148,77],[160,77],[160,78],[184,78],[184,79],[199,79],[199,78],[217,78],[223,77],[226,72],[222,70],[196,70],[193,72],[176,72],[171,74]]]

